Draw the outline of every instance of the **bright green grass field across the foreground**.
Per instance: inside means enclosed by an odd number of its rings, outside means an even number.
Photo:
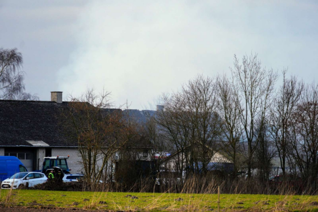
[[[217,198],[216,194],[0,190],[2,206],[114,211],[217,211]],[[220,209],[222,211],[318,212],[318,196],[221,194]]]

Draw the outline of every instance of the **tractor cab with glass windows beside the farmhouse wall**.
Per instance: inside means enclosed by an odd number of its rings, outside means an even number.
[[[71,169],[69,169],[67,159],[68,157],[45,157],[42,166],[42,173],[46,174],[48,169],[53,167],[60,167],[65,174],[69,174]]]

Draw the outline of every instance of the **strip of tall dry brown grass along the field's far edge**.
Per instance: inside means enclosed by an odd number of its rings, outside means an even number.
[[[160,179],[162,180],[162,179]],[[233,179],[228,176],[192,176],[183,182],[173,177],[165,178],[157,185],[153,178],[136,180],[132,185],[125,183],[109,183],[97,188],[98,191],[112,192],[158,192],[158,193],[196,193],[216,194],[218,186],[222,193],[227,194],[275,194],[275,195],[317,195],[318,188],[312,184],[306,185],[302,181],[261,182],[257,179]],[[83,189],[85,191],[91,191]]]

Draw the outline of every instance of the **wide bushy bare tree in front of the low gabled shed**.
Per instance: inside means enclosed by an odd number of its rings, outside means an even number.
[[[158,123],[181,154],[180,170],[185,165],[191,172],[206,172],[222,134],[215,80],[199,75],[162,100],[165,109],[159,112]]]

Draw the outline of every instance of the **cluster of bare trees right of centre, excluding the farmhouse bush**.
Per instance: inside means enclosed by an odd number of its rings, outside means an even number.
[[[185,167],[202,162],[204,172],[212,156],[221,152],[233,161],[234,176],[244,171],[247,178],[266,180],[277,157],[283,175],[315,182],[317,84],[288,77],[284,69],[278,86],[278,73],[263,68],[256,54],[241,61],[235,56],[231,73],[213,78],[199,75],[180,91],[163,95],[164,110],[154,118],[158,136],[176,150],[192,147]],[[193,151],[198,146],[203,150],[199,156]]]

